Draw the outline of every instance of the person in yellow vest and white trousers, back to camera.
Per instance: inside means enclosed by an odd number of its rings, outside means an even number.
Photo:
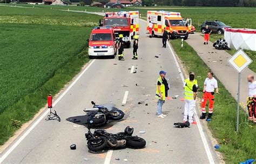
[[[193,121],[194,110],[196,108],[197,87],[198,84],[197,80],[194,79],[194,72],[190,72],[189,79],[186,79],[184,83],[185,110],[183,119],[184,122],[188,119],[190,124],[197,124]]]

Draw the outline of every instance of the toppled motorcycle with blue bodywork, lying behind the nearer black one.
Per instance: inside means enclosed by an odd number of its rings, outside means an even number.
[[[93,108],[85,108],[87,114],[87,123],[99,126],[104,125],[109,120],[120,120],[124,117],[124,112],[114,107],[113,104],[96,105],[91,101]]]

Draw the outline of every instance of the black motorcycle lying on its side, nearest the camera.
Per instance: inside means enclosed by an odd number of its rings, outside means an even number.
[[[96,129],[94,133],[88,129],[85,133],[87,140],[87,147],[90,151],[102,151],[110,147],[130,147],[130,148],[144,148],[146,141],[138,136],[132,136],[133,128],[127,126],[124,132],[117,134],[107,133],[104,129]]]

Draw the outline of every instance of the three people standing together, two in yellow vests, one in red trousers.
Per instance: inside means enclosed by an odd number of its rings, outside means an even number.
[[[157,91],[156,98],[157,102],[157,114],[158,118],[165,118],[166,115],[163,114],[162,106],[165,102],[165,99],[170,99],[168,97],[168,90],[170,89],[167,80],[165,79],[166,72],[160,71],[159,78],[157,79]],[[196,121],[193,120],[194,110],[196,108],[196,98],[198,91],[198,83],[194,78],[194,72],[189,73],[189,78],[184,80],[184,101],[185,101],[185,109],[184,109],[184,119],[183,121],[189,121],[190,124],[197,124]],[[213,72],[208,71],[207,78],[204,81],[204,90],[203,90],[203,99],[201,101],[201,111],[202,114],[200,119],[206,119],[206,121],[210,121],[213,113],[213,104],[214,104],[214,93],[219,93],[217,80],[213,77]],[[206,117],[206,103],[209,100],[209,110],[208,115]]]

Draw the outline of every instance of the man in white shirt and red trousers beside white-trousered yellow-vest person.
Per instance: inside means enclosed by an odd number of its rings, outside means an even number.
[[[202,115],[200,116],[200,119],[206,118],[206,110],[205,106],[207,103],[207,100],[209,99],[209,114],[207,116],[206,121],[210,121],[210,118],[212,117],[213,112],[213,104],[214,104],[214,89],[216,90],[216,93],[219,93],[218,83],[217,80],[213,77],[213,72],[208,71],[207,78],[204,82],[204,95],[202,99]]]

